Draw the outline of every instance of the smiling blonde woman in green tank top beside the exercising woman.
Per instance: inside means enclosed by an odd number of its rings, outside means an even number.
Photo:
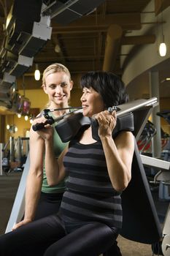
[[[69,69],[63,66],[63,64],[55,63],[47,67],[42,77],[42,89],[49,98],[47,108],[69,107],[72,87],[73,81]],[[60,110],[50,113],[50,115],[56,118],[65,112],[66,110]],[[45,118],[40,117],[34,122],[42,122],[43,119]],[[51,154],[58,158],[65,147],[66,143],[62,143],[53,126],[53,151]],[[45,140],[31,128],[30,169],[26,184],[26,208],[23,220],[15,225],[14,230],[28,222],[32,222],[34,219],[40,219],[58,212],[63,192],[66,189],[65,182],[63,180],[53,187],[48,185],[44,158]]]

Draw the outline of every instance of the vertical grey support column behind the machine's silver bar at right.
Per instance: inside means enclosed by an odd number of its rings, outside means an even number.
[[[150,97],[157,97],[159,102],[159,73],[158,71],[149,72],[150,76]],[[161,120],[156,115],[160,111],[160,105],[153,108],[152,123],[156,128],[156,135],[152,138],[152,157],[161,157]]]

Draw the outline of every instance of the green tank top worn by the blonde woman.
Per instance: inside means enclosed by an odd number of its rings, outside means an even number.
[[[55,116],[53,116],[52,113],[49,113],[49,116],[52,116],[53,118],[55,118]],[[59,137],[58,133],[55,130],[55,124],[53,124],[53,129],[54,129],[54,133],[53,133],[53,146],[54,146],[54,151],[55,151],[55,157],[58,158],[59,155],[61,154],[61,152],[63,151],[63,149],[68,145],[68,143],[63,143],[61,141],[61,138]],[[45,173],[45,163],[44,163],[44,167],[43,167],[43,181],[42,181],[42,192],[44,193],[62,193],[64,192],[66,189],[65,186],[65,181],[61,181],[58,185],[53,186],[53,187],[49,187],[49,185],[47,184],[47,176]]]

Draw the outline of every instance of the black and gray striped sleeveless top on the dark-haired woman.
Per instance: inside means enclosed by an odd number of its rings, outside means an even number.
[[[63,164],[69,175],[60,210],[64,219],[121,227],[120,193],[109,179],[101,142],[84,145],[72,141]]]

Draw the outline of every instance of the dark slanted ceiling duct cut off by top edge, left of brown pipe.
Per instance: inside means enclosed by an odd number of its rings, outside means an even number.
[[[69,24],[73,20],[88,15],[105,0],[56,0],[50,1],[43,14],[50,15],[56,23]]]

